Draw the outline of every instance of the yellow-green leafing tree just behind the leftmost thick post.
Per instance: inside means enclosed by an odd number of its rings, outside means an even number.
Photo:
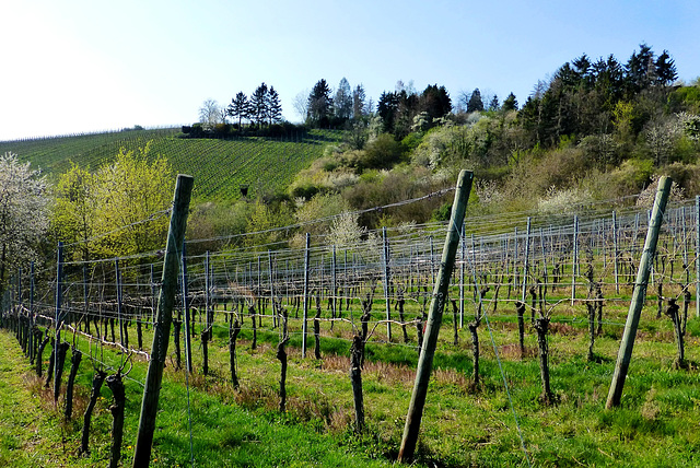
[[[150,144],[119,150],[95,174],[95,249],[120,257],[165,246],[175,177],[165,157],[150,162]]]

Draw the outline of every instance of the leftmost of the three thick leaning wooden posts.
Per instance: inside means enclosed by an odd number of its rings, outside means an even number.
[[[165,245],[165,258],[163,259],[162,289],[158,299],[156,319],[153,324],[153,346],[151,347],[151,360],[145,375],[143,388],[143,401],[137,433],[136,451],[133,453],[133,467],[148,467],[153,446],[153,432],[155,431],[155,417],[158,413],[158,400],[161,394],[163,368],[167,356],[167,344],[173,321],[173,306],[177,291],[177,273],[179,268],[179,253],[187,226],[187,211],[192,192],[195,179],[191,176],[178,174],[173,198],[173,213],[167,232]]]

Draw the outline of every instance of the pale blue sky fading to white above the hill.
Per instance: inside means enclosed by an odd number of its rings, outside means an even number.
[[[520,104],[583,54],[646,43],[700,77],[698,0],[22,0],[0,5],[0,141],[189,125],[206,100],[325,79],[376,104],[400,80]]]

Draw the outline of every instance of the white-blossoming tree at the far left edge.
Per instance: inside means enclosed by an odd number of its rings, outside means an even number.
[[[38,258],[48,227],[47,182],[16,154],[0,156],[0,297],[8,272]]]

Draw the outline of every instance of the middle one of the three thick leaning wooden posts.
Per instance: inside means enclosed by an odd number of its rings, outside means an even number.
[[[452,206],[452,214],[450,217],[450,224],[447,225],[447,236],[445,237],[441,267],[435,280],[433,297],[430,302],[425,338],[423,339],[423,346],[418,360],[416,382],[413,384],[411,401],[408,407],[408,414],[406,416],[401,447],[398,453],[399,463],[412,459],[413,452],[416,451],[420,421],[423,416],[423,407],[425,406],[430,373],[432,371],[435,347],[438,344],[438,335],[440,334],[440,324],[442,323],[442,314],[445,302],[447,301],[447,289],[455,265],[455,255],[459,244],[459,235],[462,233],[462,225],[464,223],[464,215],[467,209],[467,200],[471,191],[472,180],[472,172],[463,169],[459,173],[455,201]]]

